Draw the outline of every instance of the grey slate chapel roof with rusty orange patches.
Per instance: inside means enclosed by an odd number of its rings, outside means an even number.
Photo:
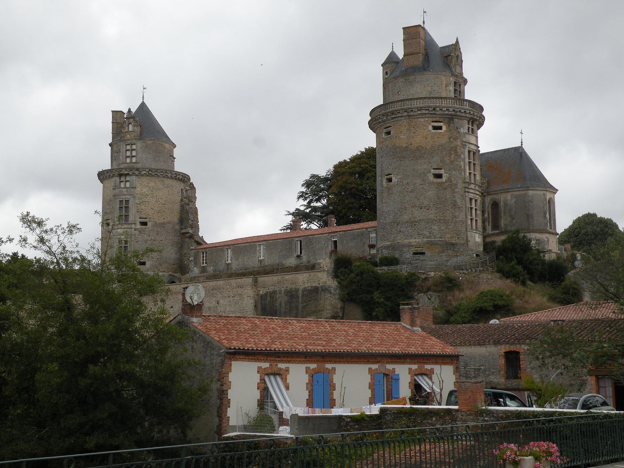
[[[557,190],[522,146],[481,153],[480,162],[481,177],[487,178],[486,192],[518,187]]]

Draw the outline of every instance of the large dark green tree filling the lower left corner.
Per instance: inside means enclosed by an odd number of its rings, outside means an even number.
[[[0,258],[2,459],[185,441],[205,383],[162,279],[137,267],[149,252],[85,252],[77,225],[21,222],[40,256]]]

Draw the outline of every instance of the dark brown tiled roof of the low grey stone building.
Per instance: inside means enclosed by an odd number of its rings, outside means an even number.
[[[577,326],[577,339],[618,338],[624,320],[600,319],[557,321],[556,326]],[[539,338],[542,329],[551,322],[479,323],[465,325],[429,325],[424,327],[431,334],[451,346],[477,346],[484,344],[524,344]]]

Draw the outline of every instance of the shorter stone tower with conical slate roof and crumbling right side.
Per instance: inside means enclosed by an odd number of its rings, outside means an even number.
[[[139,265],[177,283],[199,236],[195,187],[175,170],[175,144],[145,102],[112,111],[110,169],[101,170],[102,250],[160,250]]]

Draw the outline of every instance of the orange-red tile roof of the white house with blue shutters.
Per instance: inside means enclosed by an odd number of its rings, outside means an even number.
[[[208,314],[193,325],[226,349],[241,351],[461,354],[399,322]]]

